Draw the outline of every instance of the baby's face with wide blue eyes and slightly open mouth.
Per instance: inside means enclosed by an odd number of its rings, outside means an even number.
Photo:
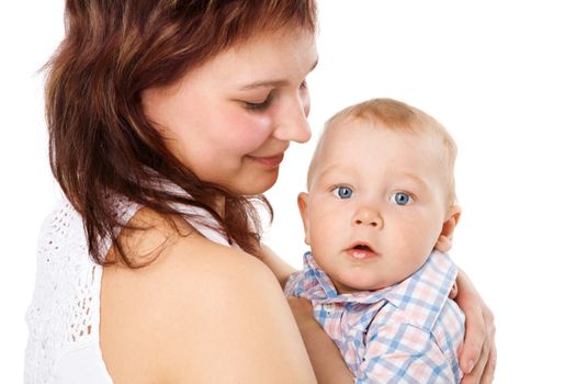
[[[298,204],[306,242],[338,292],[379,290],[417,271],[448,219],[440,139],[354,120],[326,133]]]

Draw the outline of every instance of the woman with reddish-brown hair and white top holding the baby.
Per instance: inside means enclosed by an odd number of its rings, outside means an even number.
[[[252,205],[310,136],[314,1],[68,0],[66,15],[46,100],[67,201],[41,237],[26,382],[315,382]],[[459,284],[466,380],[489,382],[492,315]]]

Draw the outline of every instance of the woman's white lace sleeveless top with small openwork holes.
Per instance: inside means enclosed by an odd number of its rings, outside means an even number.
[[[139,208],[126,200],[113,204],[123,223]],[[214,223],[201,210],[182,211]],[[217,231],[197,223],[194,227],[228,246]],[[105,247],[108,252],[110,241]],[[34,296],[26,314],[30,336],[24,383],[112,383],[100,350],[102,267],[90,258],[82,219],[66,200],[44,223],[36,268]]]

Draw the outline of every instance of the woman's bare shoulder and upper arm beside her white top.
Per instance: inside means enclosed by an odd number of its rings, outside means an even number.
[[[127,239],[131,249],[162,250],[146,267],[104,270],[101,339],[115,382],[138,374],[176,383],[313,382],[290,308],[262,262],[185,222],[138,214],[154,226]]]

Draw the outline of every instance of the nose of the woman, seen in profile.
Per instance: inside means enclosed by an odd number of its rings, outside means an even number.
[[[278,115],[274,137],[285,142],[308,142],[312,136],[307,118],[308,109],[308,101],[300,98],[283,105]]]

